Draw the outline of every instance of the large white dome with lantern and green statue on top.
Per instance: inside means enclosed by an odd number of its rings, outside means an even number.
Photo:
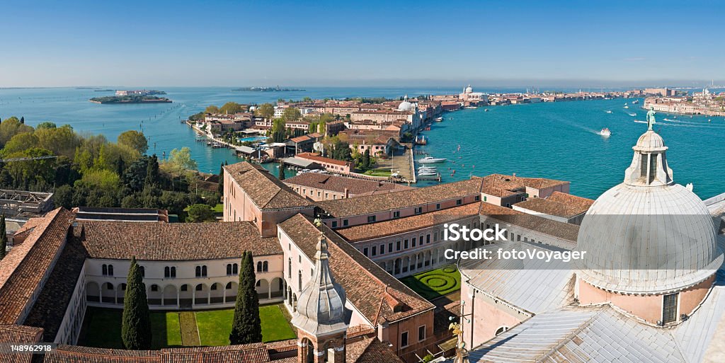
[[[653,120],[654,121],[654,120]],[[617,293],[680,291],[711,277],[723,262],[703,201],[675,184],[667,146],[650,130],[634,146],[624,183],[603,193],[584,217],[579,278]]]

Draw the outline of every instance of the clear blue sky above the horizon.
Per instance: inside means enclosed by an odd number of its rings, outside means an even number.
[[[0,87],[725,83],[716,1],[3,1]]]

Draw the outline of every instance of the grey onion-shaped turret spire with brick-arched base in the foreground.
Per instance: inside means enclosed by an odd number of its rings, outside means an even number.
[[[345,362],[345,291],[332,277],[329,258],[327,238],[320,232],[315,270],[291,321],[298,329],[298,363]]]

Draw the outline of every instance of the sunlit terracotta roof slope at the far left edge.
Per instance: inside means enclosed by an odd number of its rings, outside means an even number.
[[[73,214],[58,208],[42,217],[20,246],[0,260],[0,324],[16,324],[65,243]]]

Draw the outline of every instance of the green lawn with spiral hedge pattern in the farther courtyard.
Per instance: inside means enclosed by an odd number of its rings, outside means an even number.
[[[454,264],[408,276],[400,281],[428,300],[460,290],[460,272]]]

